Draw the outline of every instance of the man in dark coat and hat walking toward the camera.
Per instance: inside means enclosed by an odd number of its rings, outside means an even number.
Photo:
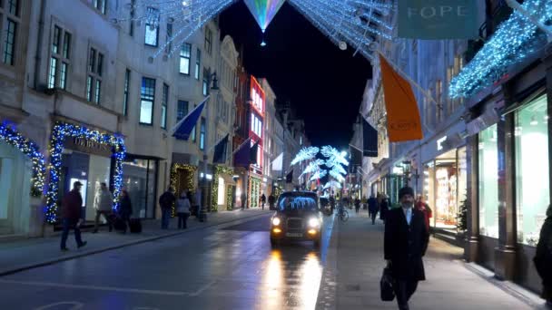
[[[384,252],[396,281],[394,289],[399,309],[409,309],[410,296],[418,282],[426,279],[422,258],[429,243],[424,214],[414,208],[414,190],[399,190],[401,208],[386,214]]]

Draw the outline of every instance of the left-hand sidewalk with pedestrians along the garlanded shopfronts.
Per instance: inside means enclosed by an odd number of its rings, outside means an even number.
[[[161,229],[160,220],[143,220],[143,232],[141,234],[131,234],[129,232],[126,234],[109,233],[107,232],[107,228],[103,227],[97,234],[84,232],[83,240],[87,241],[88,244],[86,247],[80,249],[76,248],[74,234],[71,233],[67,239],[67,247],[70,248],[68,252],[60,251],[60,236],[5,242],[0,244],[0,276],[13,274],[36,266],[50,265],[75,257],[84,257],[113,248],[127,247],[162,237],[171,237],[191,230],[209,228],[248,218],[259,218],[269,213],[271,211],[259,209],[212,213],[208,214],[207,222],[199,222],[195,218],[189,218],[188,229],[185,230],[176,228],[176,218],[171,220],[171,224],[167,230]]]

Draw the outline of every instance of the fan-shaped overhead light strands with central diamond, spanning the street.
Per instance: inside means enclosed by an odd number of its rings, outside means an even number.
[[[136,0],[124,5],[112,17],[115,24],[134,22],[149,27],[151,33],[159,30],[160,24],[172,24],[167,40],[160,44],[149,61],[163,54],[163,58],[180,53],[181,46],[192,34],[214,17],[221,14],[236,0]],[[255,20],[264,32],[277,14],[283,0],[245,0]],[[392,27],[380,16],[389,15],[394,9],[384,0],[288,0],[301,15],[304,15],[320,32],[341,49],[351,46],[368,60],[374,59],[378,50],[376,37],[391,39]],[[155,46],[156,44],[153,44]]]

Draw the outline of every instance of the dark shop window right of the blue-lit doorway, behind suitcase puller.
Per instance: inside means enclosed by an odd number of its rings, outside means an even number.
[[[133,204],[133,218],[154,218],[158,160],[127,156],[123,163],[123,188]]]

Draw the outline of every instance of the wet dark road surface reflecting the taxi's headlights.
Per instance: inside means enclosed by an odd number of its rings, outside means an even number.
[[[269,226],[266,216],[0,277],[2,309],[314,309],[330,220],[320,250],[272,249]]]

